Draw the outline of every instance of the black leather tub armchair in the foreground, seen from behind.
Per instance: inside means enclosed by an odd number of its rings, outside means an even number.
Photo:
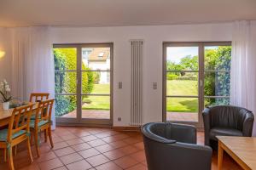
[[[196,144],[193,126],[151,122],[142,127],[148,170],[210,170],[212,149]]]

